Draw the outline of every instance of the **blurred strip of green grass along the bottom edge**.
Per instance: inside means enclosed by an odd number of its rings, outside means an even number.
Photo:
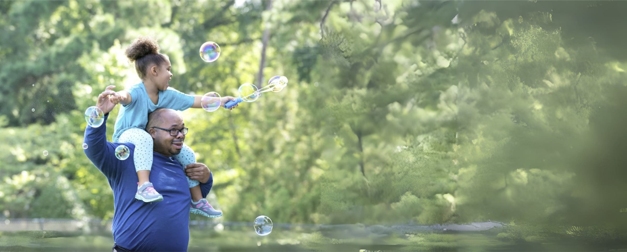
[[[566,236],[505,239],[507,229],[482,232],[426,231],[375,234],[345,230],[275,228],[258,236],[251,227],[192,229],[189,251],[627,251],[626,241],[586,243]],[[0,232],[0,251],[110,251],[111,233]]]

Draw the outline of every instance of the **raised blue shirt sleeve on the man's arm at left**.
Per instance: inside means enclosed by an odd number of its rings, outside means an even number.
[[[105,121],[100,125],[100,127],[93,128],[87,125],[87,129],[85,129],[85,138],[84,142],[87,144],[87,149],[84,149],[85,155],[87,158],[92,161],[93,165],[95,165],[102,174],[105,176],[112,178],[117,176],[117,174],[121,174],[122,165],[127,162],[114,162],[120,161],[115,158],[115,148],[120,144],[114,144],[112,142],[107,141],[107,118],[108,114],[105,115]],[[132,148],[130,146],[129,148]],[[131,152],[132,153],[132,152]],[[130,157],[130,160],[133,160]]]

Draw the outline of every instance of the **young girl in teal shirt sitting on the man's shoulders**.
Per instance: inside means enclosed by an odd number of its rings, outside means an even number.
[[[163,196],[155,191],[150,183],[150,169],[152,167],[152,137],[144,130],[148,123],[148,113],[157,108],[172,108],[186,110],[187,108],[201,108],[201,95],[186,95],[169,87],[172,79],[171,63],[167,55],[159,53],[159,45],[152,38],[140,37],[135,39],[126,50],[126,56],[135,62],[137,75],[142,79],[129,90],[120,91],[110,96],[113,103],[120,103],[122,107],[118,113],[113,131],[113,142],[130,142],[135,145],[133,162],[139,183],[136,199],[144,202],[162,201]],[[233,97],[222,97],[221,105],[234,100]],[[170,134],[187,134],[187,129],[163,129]],[[196,162],[194,151],[187,145],[182,145],[181,152],[174,155],[183,167]],[[192,203],[189,211],[210,218],[222,216],[220,211],[211,207],[201,194],[198,181],[187,178]],[[157,187],[158,188],[158,187]]]

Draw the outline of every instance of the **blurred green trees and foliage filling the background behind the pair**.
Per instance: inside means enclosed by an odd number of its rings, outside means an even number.
[[[555,226],[621,237],[625,9],[625,1],[0,1],[0,217],[112,218],[112,191],[83,154],[83,112],[108,85],[139,82],[124,50],[148,35],[184,93],[237,97],[242,83],[290,80],[232,112],[183,112],[186,143],[214,172],[220,221],[490,219],[535,227],[510,225],[501,238],[543,237]],[[217,61],[199,57],[205,41],[221,47]]]

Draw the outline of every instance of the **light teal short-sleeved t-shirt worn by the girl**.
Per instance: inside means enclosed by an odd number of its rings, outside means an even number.
[[[115,127],[113,128],[113,142],[117,142],[127,129],[145,129],[148,124],[148,113],[157,108],[172,108],[173,110],[186,110],[194,105],[194,95],[187,95],[168,87],[166,91],[159,91],[159,102],[152,103],[144,83],[135,84],[127,90],[130,93],[131,102],[122,105],[118,112]]]

